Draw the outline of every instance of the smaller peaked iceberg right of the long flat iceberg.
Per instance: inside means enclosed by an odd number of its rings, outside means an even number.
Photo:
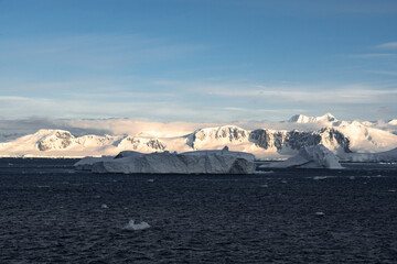
[[[304,146],[298,155],[285,162],[275,162],[260,167],[343,168],[339,158],[324,145]]]

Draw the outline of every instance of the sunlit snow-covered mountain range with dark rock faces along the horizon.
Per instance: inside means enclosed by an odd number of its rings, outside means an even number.
[[[117,155],[121,151],[187,152],[222,150],[248,152],[258,158],[287,158],[303,146],[324,145],[333,153],[378,153],[397,147],[396,120],[358,122],[337,120],[331,113],[322,117],[293,116],[289,127],[316,124],[319,129],[243,129],[237,125],[201,128],[181,135],[146,131],[135,134],[74,135],[60,129],[41,129],[32,134],[0,143],[0,156],[100,156]],[[308,127],[310,128],[310,127]],[[0,131],[1,133],[1,131]],[[159,136],[154,136],[154,134]]]

